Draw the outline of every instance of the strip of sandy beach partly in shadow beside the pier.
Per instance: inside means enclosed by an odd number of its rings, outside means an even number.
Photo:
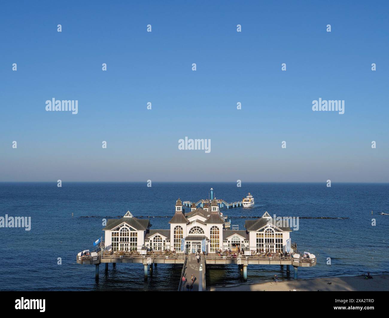
[[[331,283],[331,284],[328,284]],[[224,287],[211,287],[210,291],[389,291],[389,275],[344,276],[298,280],[279,280],[278,284],[264,282]]]

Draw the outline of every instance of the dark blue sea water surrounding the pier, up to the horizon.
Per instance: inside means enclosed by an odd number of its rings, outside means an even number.
[[[210,188],[228,202],[251,192],[252,208],[222,209],[232,224],[244,229],[242,216],[261,216],[266,210],[279,216],[347,217],[348,219],[300,219],[291,233],[302,252],[314,253],[318,265],[300,268],[299,278],[389,273],[389,184],[325,183],[142,183],[116,182],[0,182],[0,216],[31,216],[31,231],[0,228],[2,261],[0,290],[175,290],[180,265],[158,264],[152,278],[143,280],[142,264],[109,265],[100,280],[95,266],[79,265],[76,254],[93,248],[102,235],[102,219],[123,216],[150,217],[152,228],[169,228],[175,201],[208,198]],[[374,215],[371,215],[373,210]],[[74,217],[72,217],[72,212]],[[377,220],[371,226],[371,218]],[[61,257],[62,265],[57,265]],[[332,264],[326,264],[331,257]],[[274,274],[286,278],[286,268],[252,266],[248,282],[268,280]],[[237,266],[207,266],[207,287],[241,283]]]

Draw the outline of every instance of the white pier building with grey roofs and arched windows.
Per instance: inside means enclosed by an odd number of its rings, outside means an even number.
[[[208,209],[208,210],[205,210]],[[175,250],[177,253],[213,253],[219,250],[244,248],[256,252],[284,252],[291,229],[274,225],[272,217],[265,214],[256,220],[247,220],[245,230],[225,229],[225,220],[214,200],[210,207],[191,208],[187,214],[180,199],[170,220],[170,229],[150,229],[148,220],[133,217],[128,211],[122,219],[108,220],[105,246],[114,252],[143,249],[153,251]],[[224,237],[223,237],[224,236]],[[181,250],[182,239],[184,250]]]

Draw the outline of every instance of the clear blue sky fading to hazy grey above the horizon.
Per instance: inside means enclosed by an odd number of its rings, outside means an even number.
[[[388,12],[387,1],[2,2],[0,181],[388,182]],[[78,114],[46,111],[53,98],[78,100]],[[345,113],[312,111],[319,98]],[[179,150],[185,136],[211,139],[210,153]]]

